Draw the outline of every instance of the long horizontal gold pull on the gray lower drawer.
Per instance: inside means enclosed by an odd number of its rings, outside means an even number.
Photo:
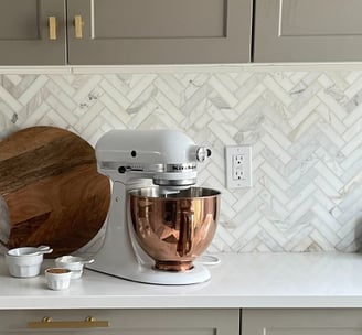
[[[28,322],[28,328],[107,328],[108,321],[96,321],[87,316],[84,321],[53,321],[52,317],[44,316],[42,321]]]

